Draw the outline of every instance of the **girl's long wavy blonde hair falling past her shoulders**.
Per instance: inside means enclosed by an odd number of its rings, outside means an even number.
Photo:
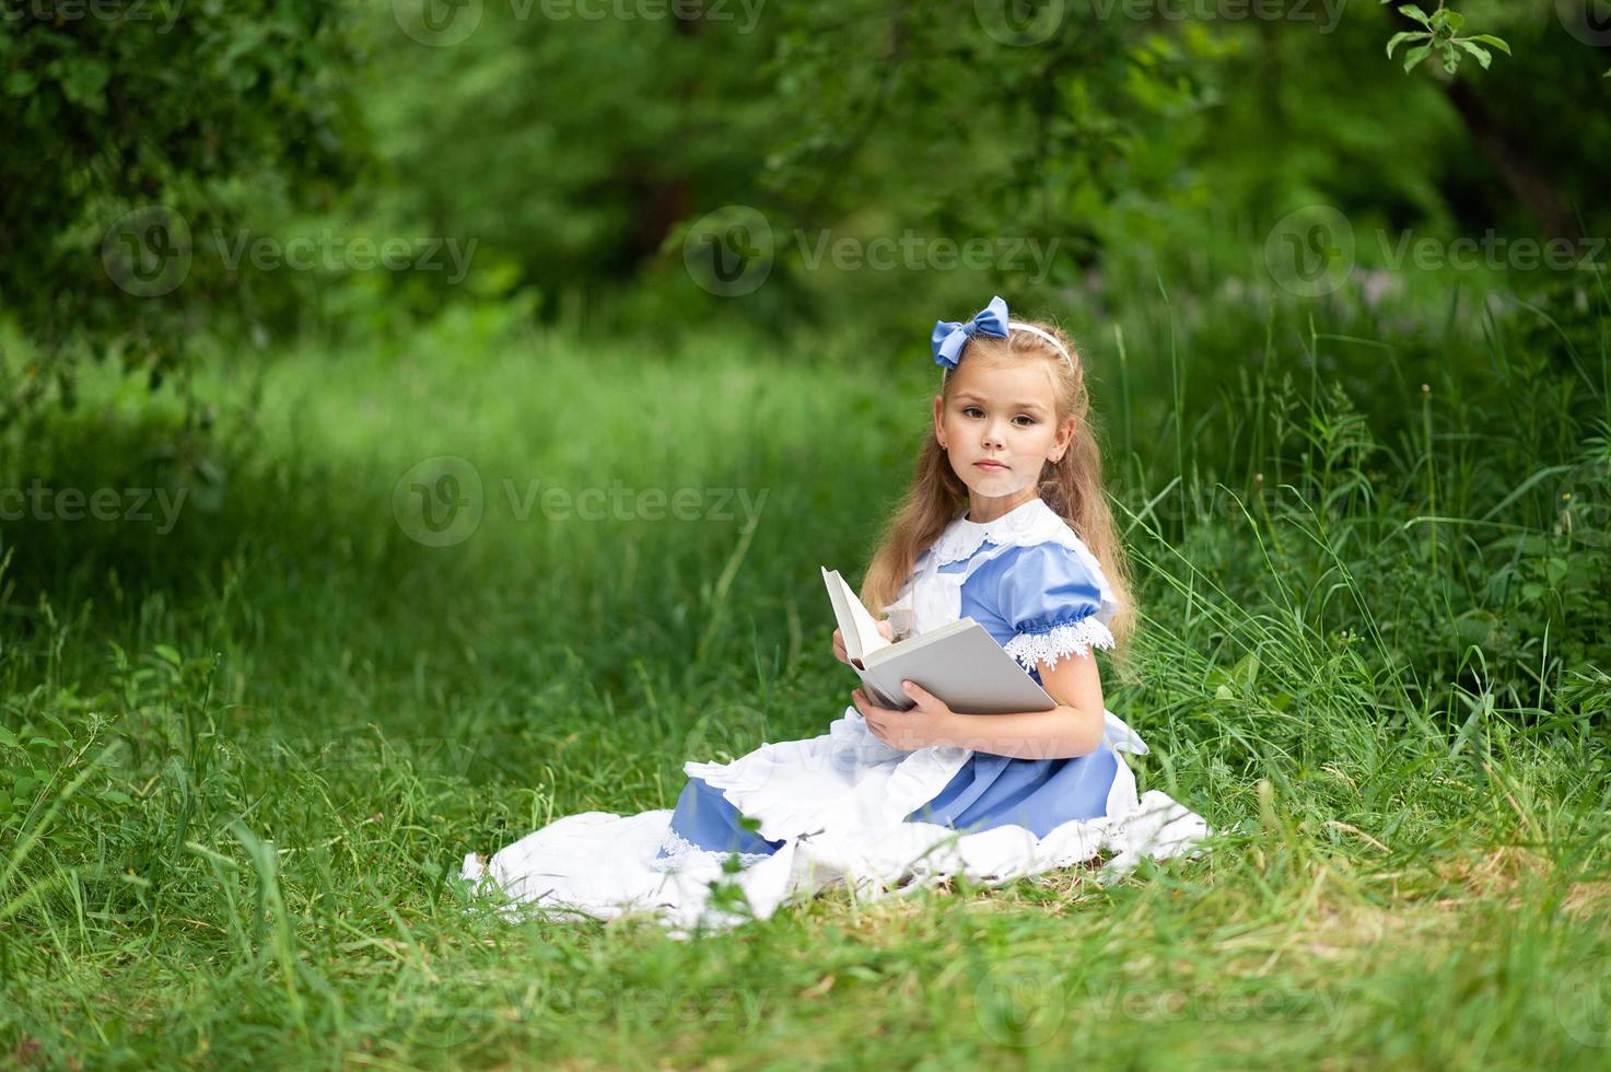
[[[991,364],[1034,359],[1047,363],[1057,395],[1057,427],[1073,418],[1075,435],[1058,461],[1044,463],[1039,495],[1058,517],[1068,522],[1075,535],[1084,540],[1102,566],[1102,574],[1121,608],[1110,622],[1110,629],[1118,642],[1118,653],[1123,653],[1129,634],[1134,630],[1136,608],[1131,595],[1129,559],[1120,543],[1118,527],[1113,524],[1113,514],[1102,493],[1102,453],[1089,422],[1091,397],[1086,392],[1084,361],[1068,335],[1055,324],[1021,322],[1039,327],[1063,343],[1071,361],[1065,361],[1046,339],[1033,332],[1012,330],[1005,339],[973,335],[959,355],[957,368],[962,368],[963,361],[979,359]],[[955,369],[946,371],[941,397],[947,401],[954,380]],[[930,429],[912,474],[912,487],[884,524],[878,550],[873,551],[867,574],[862,577],[862,603],[875,614],[892,603],[912,574],[918,556],[967,505],[968,485],[950,467],[950,459]]]

